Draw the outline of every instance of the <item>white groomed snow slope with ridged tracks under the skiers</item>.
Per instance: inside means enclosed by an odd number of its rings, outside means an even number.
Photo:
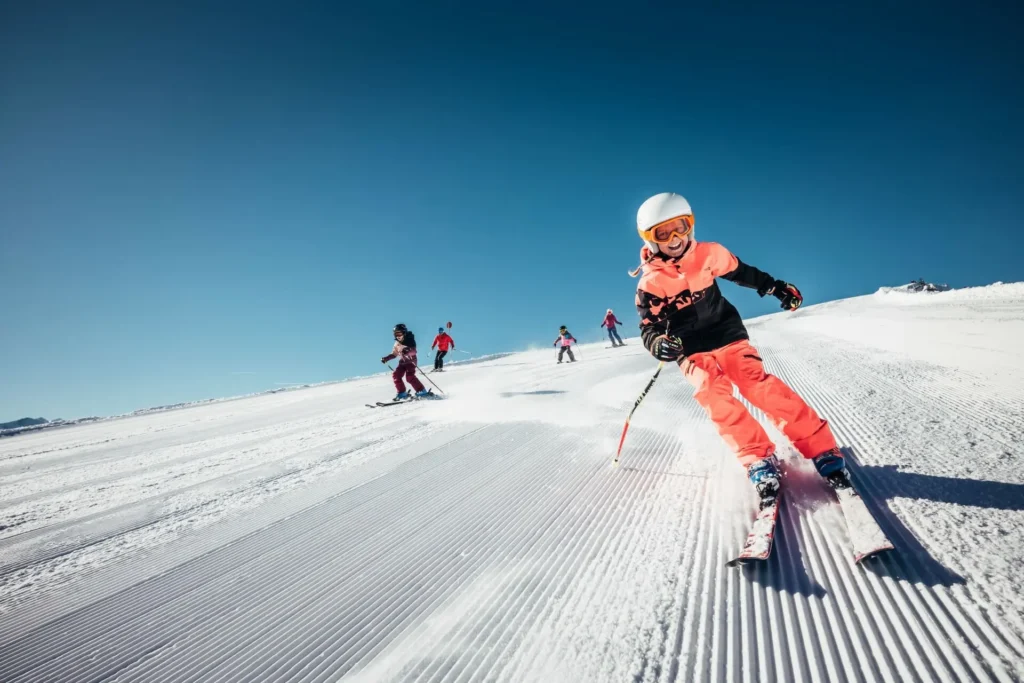
[[[742,296],[739,292],[729,292]],[[775,553],[690,390],[509,355],[0,440],[0,681],[1024,678],[1024,285],[753,321],[897,546],[778,437]],[[774,430],[772,434],[777,435]]]

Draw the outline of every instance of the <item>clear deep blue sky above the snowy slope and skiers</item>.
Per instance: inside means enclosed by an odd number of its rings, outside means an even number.
[[[808,303],[1024,280],[1018,3],[348,4],[0,5],[0,421],[634,335],[664,190]]]

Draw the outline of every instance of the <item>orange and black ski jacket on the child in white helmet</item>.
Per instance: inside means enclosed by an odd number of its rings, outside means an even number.
[[[771,290],[775,280],[746,265],[722,245],[693,242],[679,258],[640,252],[643,274],[637,285],[640,335],[650,350],[669,331],[683,342],[686,355],[703,353],[748,339],[739,312],[722,296],[716,278],[758,290]]]

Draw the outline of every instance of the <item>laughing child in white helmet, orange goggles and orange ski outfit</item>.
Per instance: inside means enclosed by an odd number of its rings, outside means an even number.
[[[746,468],[762,505],[779,488],[775,445],[756,419],[732,395],[739,392],[793,441],[834,487],[849,483],[842,452],[828,423],[782,380],[765,372],[742,319],[718,289],[716,278],[771,294],[784,310],[796,310],[803,296],[795,286],[746,265],[725,247],[693,239],[693,212],[674,193],[648,199],[637,212],[644,241],[637,311],[644,346],[658,360],[676,361],[693,385],[719,434]]]

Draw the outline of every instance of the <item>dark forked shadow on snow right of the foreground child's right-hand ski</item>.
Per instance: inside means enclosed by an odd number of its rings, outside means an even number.
[[[953,586],[967,583],[964,577],[936,560],[890,510],[892,498],[911,498],[937,503],[953,503],[991,510],[1024,510],[1024,484],[957,479],[953,477],[900,472],[895,465],[857,464],[853,449],[843,449],[854,482],[863,489],[863,499],[896,552],[880,555],[864,566],[880,575],[902,579],[926,586]]]

